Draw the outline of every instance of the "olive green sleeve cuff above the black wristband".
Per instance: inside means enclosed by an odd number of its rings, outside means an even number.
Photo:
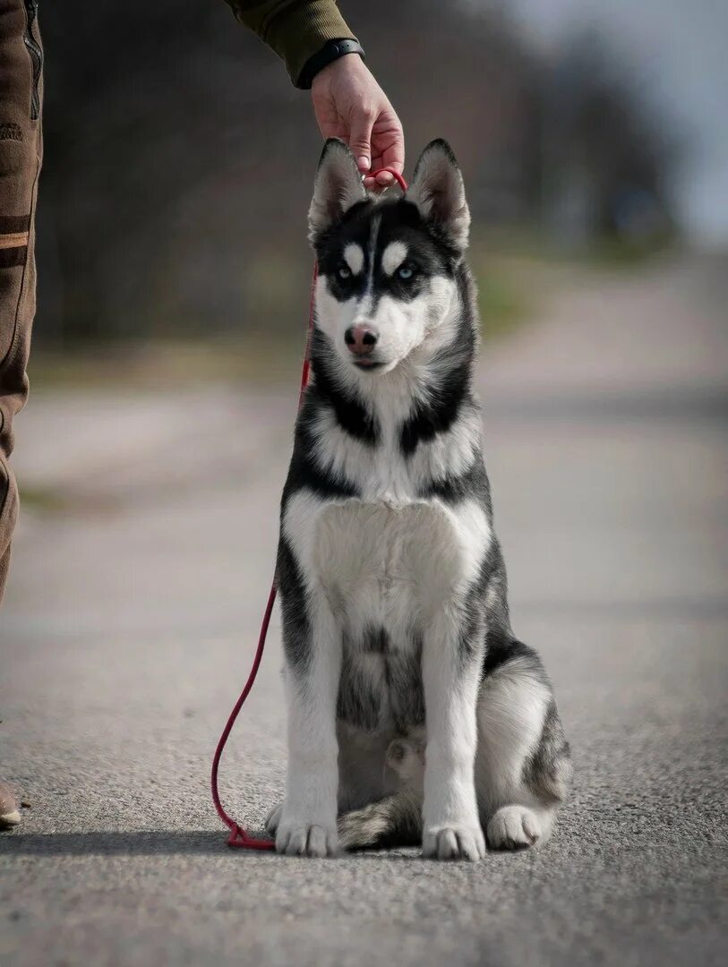
[[[327,41],[356,40],[335,0],[226,0],[233,13],[272,47],[298,86],[306,61]]]

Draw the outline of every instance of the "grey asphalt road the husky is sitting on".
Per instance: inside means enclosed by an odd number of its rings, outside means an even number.
[[[574,754],[537,852],[229,850],[208,793],[267,593],[285,391],[37,394],[0,617],[0,963],[717,964],[725,952],[726,265],[585,279],[481,392],[514,627]],[[52,504],[53,502],[51,502]],[[277,624],[222,766],[280,795]],[[725,922],[725,921],[724,921]],[[721,954],[722,951],[722,954]]]

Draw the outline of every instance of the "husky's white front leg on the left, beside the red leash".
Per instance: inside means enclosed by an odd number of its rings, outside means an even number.
[[[306,620],[286,621],[283,645],[288,699],[288,774],[276,832],[278,853],[333,856],[337,850],[336,697],[341,635],[328,601],[313,594]]]

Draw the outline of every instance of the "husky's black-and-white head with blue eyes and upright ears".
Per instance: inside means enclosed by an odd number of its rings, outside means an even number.
[[[388,372],[449,316],[470,213],[450,146],[432,141],[401,198],[366,193],[354,156],[326,142],[308,212],[316,316],[345,366]]]

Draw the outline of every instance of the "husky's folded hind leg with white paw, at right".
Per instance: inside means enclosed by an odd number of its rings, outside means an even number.
[[[550,835],[571,764],[538,655],[518,641],[498,651],[480,689],[476,787],[489,845],[516,849]]]

